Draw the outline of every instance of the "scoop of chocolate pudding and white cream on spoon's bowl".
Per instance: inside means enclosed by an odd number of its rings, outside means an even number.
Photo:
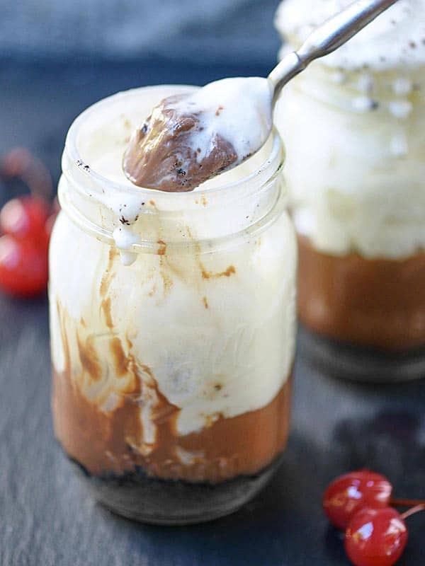
[[[272,98],[271,83],[260,77],[222,79],[165,98],[133,133],[125,175],[140,187],[193,190],[263,146]]]

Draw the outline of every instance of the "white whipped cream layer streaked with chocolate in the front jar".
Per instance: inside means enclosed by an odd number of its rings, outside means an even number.
[[[187,88],[130,91],[78,119],[81,183],[93,183],[96,192],[86,188],[91,197],[81,197],[64,158],[60,195],[67,213],[57,219],[50,248],[55,370],[64,371],[71,359],[80,391],[101,410],[113,410],[128,387],[125,376],[111,371],[109,344],[119,338],[145,383],[141,417],[147,445],[156,434],[149,420],[156,395],[152,376],[159,393],[180,408],[177,432],[188,434],[270,403],[288,379],[295,345],[296,246],[288,214],[279,214],[261,233],[250,232],[253,219],[266,219],[276,201],[273,191],[254,196],[270,174],[271,146],[220,179],[179,195],[140,190],[121,171],[140,112],[183,91]],[[238,148],[246,151],[242,142]],[[243,193],[237,184],[242,178]],[[106,183],[116,183],[117,190],[106,189]],[[220,183],[234,183],[234,189],[220,196]],[[115,246],[77,225],[73,197],[83,199],[75,209],[85,207],[90,226],[103,227],[111,243],[115,238],[116,246],[133,254],[130,265],[111,255]],[[229,234],[233,239],[227,241]],[[217,243],[210,239],[217,237]],[[135,250],[147,241],[158,243],[158,253]],[[101,360],[100,381],[84,373],[81,344]]]

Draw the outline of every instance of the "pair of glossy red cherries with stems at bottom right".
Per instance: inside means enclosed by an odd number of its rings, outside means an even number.
[[[404,519],[425,509],[424,502],[392,499],[392,485],[384,475],[358,470],[336,478],[324,492],[329,521],[345,531],[344,545],[355,566],[392,566],[407,544]],[[399,514],[391,505],[414,504]]]

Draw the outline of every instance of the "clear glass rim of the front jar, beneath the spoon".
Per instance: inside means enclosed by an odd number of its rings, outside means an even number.
[[[111,180],[105,175],[102,175],[96,168],[91,168],[88,163],[84,161],[84,158],[81,156],[79,148],[78,148],[78,136],[80,132],[81,125],[95,112],[99,110],[104,110],[108,107],[108,105],[113,105],[117,103],[117,101],[122,101],[125,104],[125,99],[130,98],[133,96],[137,96],[141,91],[160,91],[166,88],[178,88],[179,91],[185,91],[186,89],[189,91],[193,88],[200,88],[198,86],[193,85],[171,85],[171,84],[163,84],[163,85],[155,85],[155,86],[141,86],[137,88],[130,88],[127,91],[120,91],[115,93],[111,96],[106,98],[102,98],[98,100],[98,102],[90,105],[86,110],[81,112],[72,122],[71,126],[69,127],[67,137],[65,140],[65,148],[64,153],[62,156],[62,170],[66,175],[67,171],[70,171],[72,168],[79,169],[88,180],[91,181],[91,190],[100,190],[102,193],[105,193],[106,190],[114,191],[116,194],[121,193],[125,195],[134,195],[137,197],[146,197],[152,198],[153,196],[156,198],[161,198],[162,195],[166,195],[167,200],[174,200],[176,204],[179,204],[179,207],[185,207],[186,202],[191,200],[193,195],[196,197],[202,198],[203,195],[209,198],[214,197],[214,195],[224,195],[228,192],[234,192],[235,196],[237,195],[237,188],[243,185],[249,184],[252,180],[257,178],[256,186],[258,185],[258,178],[261,180],[260,187],[264,184],[268,183],[269,180],[276,174],[283,166],[283,161],[285,159],[285,151],[283,149],[283,142],[278,134],[278,131],[275,127],[273,127],[270,137],[268,138],[267,143],[271,141],[271,151],[268,155],[265,156],[263,162],[260,166],[256,167],[252,173],[248,175],[242,176],[242,178],[238,180],[232,180],[226,183],[225,185],[218,185],[212,187],[203,187],[200,185],[196,187],[192,191],[188,192],[164,192],[162,190],[157,189],[150,189],[145,187],[138,187],[137,185],[131,185],[130,183],[123,183],[117,182],[115,180]],[[160,98],[159,98],[160,100]],[[265,145],[266,145],[265,144]],[[262,149],[262,148],[261,148]],[[261,149],[259,151],[261,151]],[[244,163],[248,163],[254,156],[257,156],[259,152],[256,152],[253,156],[247,159]],[[277,161],[277,163],[276,163]],[[237,166],[239,167],[239,166]],[[235,169],[237,169],[237,167]],[[224,172],[223,174],[225,174]],[[263,177],[263,179],[261,179]],[[229,195],[227,195],[229,198]]]

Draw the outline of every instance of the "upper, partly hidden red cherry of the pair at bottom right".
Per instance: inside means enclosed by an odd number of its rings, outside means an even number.
[[[379,473],[369,470],[340,475],[324,492],[322,504],[329,521],[338,529],[346,529],[351,517],[362,507],[386,507],[392,485]]]

